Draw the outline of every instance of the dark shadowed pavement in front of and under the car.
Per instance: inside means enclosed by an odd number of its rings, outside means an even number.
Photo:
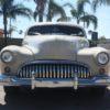
[[[72,89],[35,89],[8,96],[1,87],[0,103],[0,110],[110,110],[110,91],[102,99],[85,89],[77,94]]]

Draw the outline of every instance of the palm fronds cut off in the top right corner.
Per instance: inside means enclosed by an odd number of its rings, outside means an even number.
[[[110,6],[110,0],[92,0],[92,9],[96,11],[101,4]]]

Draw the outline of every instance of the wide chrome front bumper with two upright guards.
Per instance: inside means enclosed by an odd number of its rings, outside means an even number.
[[[109,86],[110,77],[94,77],[88,79],[51,79],[51,78],[34,78],[32,76],[29,78],[18,78],[15,76],[0,75],[0,85],[2,86],[31,86],[32,89],[35,87],[73,87],[77,89],[78,87],[88,86]]]

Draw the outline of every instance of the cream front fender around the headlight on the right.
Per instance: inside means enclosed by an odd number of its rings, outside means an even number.
[[[105,68],[106,74],[109,75],[110,62],[107,65],[99,65],[97,63],[97,55],[101,52],[106,52],[110,55],[109,51],[103,47],[84,48],[77,52],[77,61],[89,65],[92,74],[98,74],[100,68]]]

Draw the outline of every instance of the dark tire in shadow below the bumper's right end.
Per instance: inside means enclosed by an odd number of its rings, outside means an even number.
[[[90,94],[92,97],[103,97],[106,94],[107,87],[92,87],[90,88]]]

